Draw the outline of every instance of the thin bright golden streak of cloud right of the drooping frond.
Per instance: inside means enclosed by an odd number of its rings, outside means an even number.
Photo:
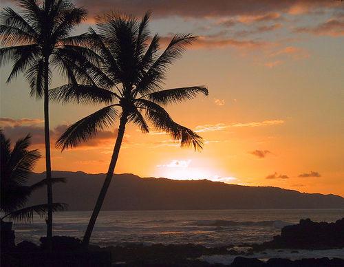
[[[271,125],[282,125],[284,120],[264,120],[261,122],[232,122],[228,125],[224,123],[217,123],[216,125],[197,125],[194,129],[196,133],[202,133],[205,131],[222,131],[230,127],[261,127]]]

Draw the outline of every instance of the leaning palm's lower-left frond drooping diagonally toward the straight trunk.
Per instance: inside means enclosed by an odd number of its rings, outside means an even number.
[[[61,150],[76,147],[80,142],[85,142],[96,136],[98,131],[103,131],[114,123],[118,116],[115,105],[103,107],[94,114],[78,120],[63,133],[56,141],[56,147]]]

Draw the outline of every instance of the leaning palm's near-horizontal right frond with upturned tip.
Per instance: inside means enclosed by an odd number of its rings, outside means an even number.
[[[193,99],[197,94],[202,93],[208,96],[208,89],[205,86],[180,87],[166,89],[158,92],[147,94],[145,98],[157,104],[166,105],[169,103],[180,103],[183,100]]]

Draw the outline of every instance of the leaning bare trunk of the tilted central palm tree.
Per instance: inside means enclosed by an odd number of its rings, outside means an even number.
[[[87,230],[86,230],[86,233],[85,233],[84,238],[83,238],[83,245],[84,246],[88,246],[88,244],[89,244],[89,239],[91,238],[94,224],[96,224],[96,220],[97,220],[98,214],[100,212],[100,209],[103,205],[105,195],[107,193],[107,189],[109,189],[109,185],[110,185],[112,176],[114,175],[114,170],[116,167],[118,154],[120,153],[120,145],[122,145],[123,136],[125,135],[125,125],[127,124],[127,121],[128,121],[127,116],[122,115],[122,117],[120,118],[120,126],[118,128],[118,135],[116,138],[116,144],[114,147],[114,152],[112,153],[111,161],[109,164],[109,169],[107,171],[107,176],[105,178],[103,187],[99,193],[98,200],[96,202],[96,206],[94,207],[91,219],[89,220],[89,224],[87,226]]]

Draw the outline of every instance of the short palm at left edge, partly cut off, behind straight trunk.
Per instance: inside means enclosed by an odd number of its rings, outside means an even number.
[[[17,140],[11,149],[11,142],[0,129],[0,179],[1,179],[1,203],[0,211],[5,218],[10,220],[30,221],[34,213],[40,216],[46,214],[47,204],[25,206],[33,191],[46,186],[47,179],[36,182],[31,186],[26,185],[34,165],[41,158],[37,150],[28,150],[31,144],[31,136],[25,136]],[[52,178],[52,182],[65,182],[63,178]],[[63,211],[66,205],[53,203],[53,211]]]

